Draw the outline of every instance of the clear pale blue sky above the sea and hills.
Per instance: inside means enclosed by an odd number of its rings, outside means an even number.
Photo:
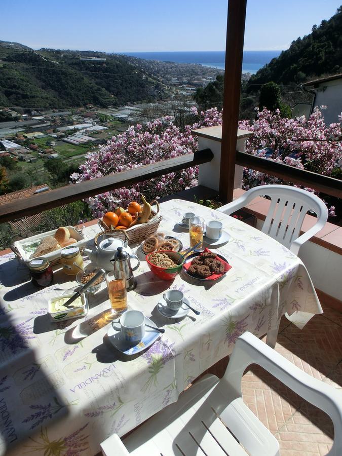
[[[245,50],[287,49],[340,0],[247,0]],[[34,49],[220,51],[227,0],[1,0],[0,40]]]

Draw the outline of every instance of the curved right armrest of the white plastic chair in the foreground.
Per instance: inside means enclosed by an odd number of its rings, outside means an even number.
[[[340,456],[342,454],[342,394],[303,372],[246,331],[237,339],[233,354],[219,383],[222,391],[230,392],[230,400],[242,397],[241,379],[250,364],[263,367],[292,391],[330,416],[334,427],[334,442],[327,454]]]

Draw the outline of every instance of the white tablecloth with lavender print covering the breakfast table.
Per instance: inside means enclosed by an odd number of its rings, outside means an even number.
[[[203,285],[181,273],[170,284],[148,270],[138,249],[141,264],[129,307],[142,310],[166,332],[134,357],[121,355],[107,339],[105,284],[90,296],[87,316],[53,323],[48,298],[76,283],[55,267],[53,284],[38,290],[13,254],[0,257],[2,454],[96,454],[111,433],[124,435],[176,401],[194,378],[232,352],[245,330],[257,336],[274,331],[286,312],[302,327],[322,313],[300,259],[253,227],[171,200],[161,204],[160,231],[178,237],[186,248],[188,233],[176,224],[186,211],[222,221],[231,238],[213,250],[232,269],[216,283]],[[98,231],[97,225],[85,229],[90,239]],[[156,304],[168,287],[182,290],[201,315],[190,312],[177,322],[162,317]]]

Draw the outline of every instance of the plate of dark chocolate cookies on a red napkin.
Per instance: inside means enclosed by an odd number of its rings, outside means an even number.
[[[198,280],[217,280],[232,268],[224,256],[205,249],[186,257],[183,269],[185,274]]]

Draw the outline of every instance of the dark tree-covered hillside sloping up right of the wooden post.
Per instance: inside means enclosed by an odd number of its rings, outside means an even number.
[[[252,75],[249,83],[300,84],[339,72],[342,72],[342,7],[320,26],[314,25],[310,34],[293,41],[288,50]],[[255,92],[255,87],[249,85],[247,93]]]

